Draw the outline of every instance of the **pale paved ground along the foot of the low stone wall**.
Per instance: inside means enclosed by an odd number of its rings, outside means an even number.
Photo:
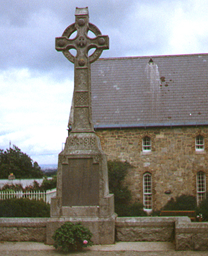
[[[53,246],[35,242],[0,242],[2,256],[208,256],[208,251],[175,251],[167,242],[119,242],[109,246],[92,246],[78,253],[62,253]]]

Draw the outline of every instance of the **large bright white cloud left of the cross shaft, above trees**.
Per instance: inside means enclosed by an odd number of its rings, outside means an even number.
[[[67,137],[73,81],[11,69],[1,73],[0,84],[1,147],[12,141],[28,154],[59,152]]]

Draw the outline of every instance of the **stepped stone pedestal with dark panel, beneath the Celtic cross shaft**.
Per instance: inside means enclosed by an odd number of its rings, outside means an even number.
[[[47,243],[64,222],[81,222],[94,244],[114,243],[114,195],[109,193],[107,157],[94,132],[69,134],[59,154],[57,195],[51,198]]]

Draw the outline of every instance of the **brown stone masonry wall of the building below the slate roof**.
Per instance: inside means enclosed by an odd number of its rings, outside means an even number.
[[[143,175],[152,175],[153,209],[159,210],[178,195],[196,196],[196,174],[206,173],[208,180],[208,127],[152,127],[97,129],[108,160],[128,161],[134,168],[125,182],[133,200],[143,202]],[[195,138],[205,138],[205,151],[196,152]],[[142,152],[142,139],[151,138],[152,151]],[[208,184],[207,184],[208,187]],[[166,191],[171,191],[166,194]]]

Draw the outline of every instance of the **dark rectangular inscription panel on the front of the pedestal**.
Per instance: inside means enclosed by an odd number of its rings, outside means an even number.
[[[98,200],[98,164],[93,159],[69,159],[69,165],[63,165],[62,205],[98,205]]]

